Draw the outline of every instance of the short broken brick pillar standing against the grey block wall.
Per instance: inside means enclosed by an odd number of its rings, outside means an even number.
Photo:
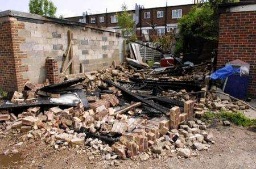
[[[59,65],[54,58],[46,58],[46,74],[49,83],[56,84],[60,82]]]

